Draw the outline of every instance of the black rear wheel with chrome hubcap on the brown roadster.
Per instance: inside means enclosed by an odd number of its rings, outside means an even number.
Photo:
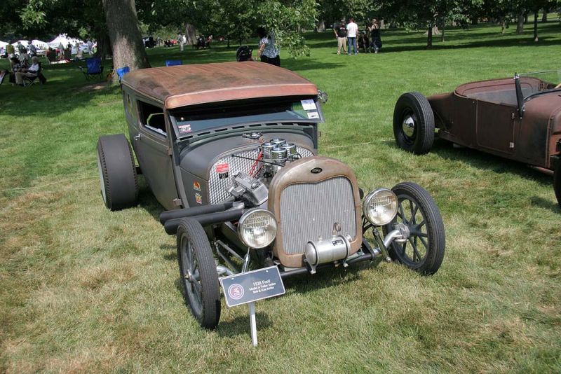
[[[393,109],[393,136],[405,151],[424,155],[434,142],[434,113],[426,97],[419,92],[400,96]]]

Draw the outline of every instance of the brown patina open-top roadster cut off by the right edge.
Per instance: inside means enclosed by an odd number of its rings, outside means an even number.
[[[393,111],[401,148],[431,150],[435,135],[459,146],[554,171],[561,205],[561,70],[460,85],[424,97],[407,92]]]

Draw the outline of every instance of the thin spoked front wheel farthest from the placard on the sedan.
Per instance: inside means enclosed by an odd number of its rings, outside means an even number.
[[[417,183],[399,183],[392,188],[398,197],[398,214],[384,227],[384,233],[395,223],[405,223],[410,236],[403,244],[395,240],[388,247],[390,257],[423,275],[437,272],[446,247],[442,216],[431,195]]]

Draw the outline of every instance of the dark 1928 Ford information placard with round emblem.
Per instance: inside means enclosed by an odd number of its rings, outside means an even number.
[[[226,305],[235,307],[285,293],[283,279],[276,266],[242,272],[220,278]]]

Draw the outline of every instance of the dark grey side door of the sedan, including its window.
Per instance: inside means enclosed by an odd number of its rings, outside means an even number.
[[[158,202],[165,209],[177,207],[177,188],[169,146],[169,121],[163,107],[144,99],[137,99],[139,125],[134,142],[142,174]]]

